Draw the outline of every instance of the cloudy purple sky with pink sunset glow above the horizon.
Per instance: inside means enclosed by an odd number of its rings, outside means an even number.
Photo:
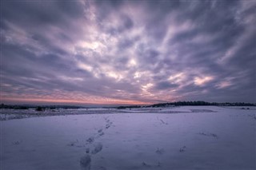
[[[256,102],[256,1],[1,0],[1,102]]]

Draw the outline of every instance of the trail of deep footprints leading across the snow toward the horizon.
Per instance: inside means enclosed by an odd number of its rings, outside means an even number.
[[[108,129],[111,127],[111,125],[113,125],[113,122],[110,121],[108,117],[104,117],[104,120],[106,121],[105,128],[98,129],[97,133],[94,136],[90,136],[86,140],[86,144],[82,145],[83,147],[86,147],[86,153],[80,159],[82,170],[90,170],[92,156],[102,151],[102,148],[103,148],[102,143],[100,142],[97,143],[95,142],[95,140],[98,139],[100,136],[104,135],[104,129]],[[91,145],[92,147],[90,147]],[[81,145],[76,145],[76,146],[79,147]],[[106,168],[100,167],[100,169],[106,169]]]

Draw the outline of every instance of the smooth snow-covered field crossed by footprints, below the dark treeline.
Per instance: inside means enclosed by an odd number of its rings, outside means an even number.
[[[0,121],[0,169],[256,169],[252,108],[80,111]]]

